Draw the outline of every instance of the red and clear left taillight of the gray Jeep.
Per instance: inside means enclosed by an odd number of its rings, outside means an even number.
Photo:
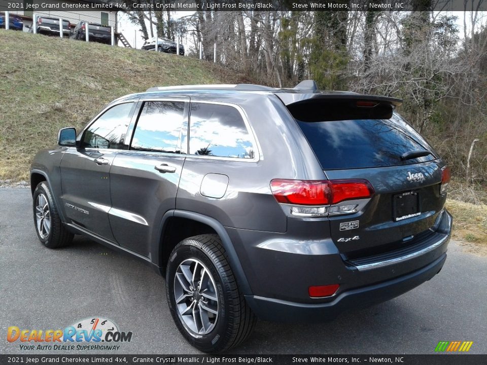
[[[290,180],[273,179],[270,190],[279,203],[293,205],[332,205],[346,200],[366,199],[372,197],[374,189],[370,182],[363,179],[347,180]],[[353,206],[352,206],[353,205]],[[329,207],[334,214],[350,213],[356,204]],[[293,207],[296,215],[323,215],[327,213],[323,207]]]

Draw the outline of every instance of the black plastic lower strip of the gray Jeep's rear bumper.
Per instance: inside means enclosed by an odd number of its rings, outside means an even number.
[[[258,296],[246,296],[254,313],[265,320],[273,321],[327,321],[343,311],[388,301],[421,285],[435,276],[443,267],[446,253],[428,266],[407,275],[379,284],[347,290],[332,302],[301,304]]]

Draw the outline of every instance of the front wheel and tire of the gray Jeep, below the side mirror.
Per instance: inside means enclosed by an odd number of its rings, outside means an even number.
[[[61,222],[56,203],[46,181],[42,181],[32,196],[34,228],[41,243],[48,248],[59,248],[73,241],[73,233],[69,232]]]

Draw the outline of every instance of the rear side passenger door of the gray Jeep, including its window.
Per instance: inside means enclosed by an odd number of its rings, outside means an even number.
[[[188,110],[189,97],[140,101],[130,149],[117,154],[110,170],[114,236],[145,257],[159,238],[162,216],[176,207]]]

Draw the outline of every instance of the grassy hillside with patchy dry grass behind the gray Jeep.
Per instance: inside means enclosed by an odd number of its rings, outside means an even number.
[[[61,127],[81,128],[113,99],[152,86],[245,82],[189,57],[0,29],[0,180],[28,180]]]

